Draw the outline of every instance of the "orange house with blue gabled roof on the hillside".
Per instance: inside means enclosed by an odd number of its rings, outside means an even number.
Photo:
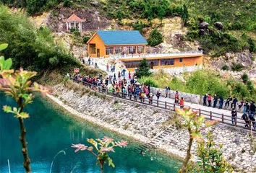
[[[145,53],[148,44],[139,31],[97,31],[88,44],[88,56],[105,57],[111,55],[133,55]]]

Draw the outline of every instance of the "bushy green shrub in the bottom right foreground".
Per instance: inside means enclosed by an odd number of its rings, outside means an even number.
[[[187,173],[225,173],[233,172],[230,164],[223,157],[222,145],[216,146],[214,135],[210,132],[206,135],[207,142],[202,141],[197,146],[197,163],[187,166]]]

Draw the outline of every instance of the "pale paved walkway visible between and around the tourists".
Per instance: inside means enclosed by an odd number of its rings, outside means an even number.
[[[107,61],[107,59],[97,60],[98,68],[100,68],[103,71],[106,71],[106,61]],[[95,60],[94,60],[94,63],[95,63]],[[91,65],[92,67],[94,67],[94,63],[93,63],[93,65]],[[110,66],[110,64],[109,64],[109,66]],[[116,66],[116,71],[115,71],[116,72],[116,79],[118,79],[118,71],[121,71],[121,68],[119,66]],[[108,74],[108,76],[109,75],[114,76],[113,72],[106,71],[106,73]],[[132,73],[132,75],[133,75],[133,73]],[[128,80],[128,71],[126,71],[126,79],[127,79],[127,83],[129,84],[130,81]],[[154,96],[153,99],[157,99],[157,98]],[[159,98],[159,101],[174,104],[174,99],[171,99],[169,97],[165,98],[165,97],[161,96]],[[148,99],[146,99],[145,102],[148,102]],[[156,103],[153,103],[153,105],[156,105]],[[179,107],[179,105],[176,105],[176,106]],[[221,118],[222,118],[221,114],[229,116],[229,117],[225,117],[227,119],[225,121],[226,121],[226,123],[231,123],[231,121],[230,121],[231,120],[231,110],[224,110],[224,109],[218,109],[218,108],[213,108],[213,107],[207,107],[207,106],[195,104],[195,103],[192,103],[192,102],[186,102],[186,100],[184,102],[184,107],[191,107],[192,109],[197,109],[197,110],[200,109],[202,114],[205,115],[205,117],[208,117],[208,118],[210,117],[209,112],[211,111],[212,115],[213,115],[213,120],[221,120]],[[207,111],[207,112],[205,112],[205,111]],[[242,113],[238,112],[237,117],[241,118]],[[244,123],[244,120],[239,120],[239,119],[237,120],[237,125],[244,126],[240,122]]]

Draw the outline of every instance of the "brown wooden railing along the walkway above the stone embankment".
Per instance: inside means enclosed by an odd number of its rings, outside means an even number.
[[[86,86],[90,89],[93,89],[97,92],[100,92],[102,94],[111,95],[112,97],[118,97],[118,98],[121,98],[121,99],[127,99],[129,101],[137,102],[137,103],[140,103],[140,104],[143,104],[143,105],[150,105],[150,106],[158,107],[158,108],[161,108],[161,109],[164,109],[164,110],[170,110],[172,112],[175,112],[176,107],[180,107],[180,105],[176,105],[176,104],[171,103],[171,102],[163,102],[163,101],[160,101],[158,99],[148,99],[146,97],[142,98],[142,97],[140,97],[138,95],[135,95],[135,94],[128,94],[128,93],[122,93],[122,92],[118,92],[118,93],[117,92],[110,92],[108,89],[105,89],[102,86],[93,85],[93,84],[90,84],[90,83],[85,82],[85,81],[79,81],[79,80],[74,79],[72,77],[70,77],[70,79],[72,79],[74,82],[81,83],[82,85],[84,85],[84,86]],[[112,89],[112,91],[113,91],[113,89]],[[189,107],[189,106],[184,105],[184,107]],[[190,107],[190,108],[192,108],[192,110],[194,110],[194,111],[197,111],[198,115],[204,115],[205,118],[207,118],[208,120],[218,120],[220,123],[224,123],[224,124],[228,124],[228,125],[234,125],[238,128],[244,128],[245,130],[255,131],[255,129],[253,128],[253,124],[255,124],[255,126],[256,126],[255,121],[248,120],[249,128],[245,128],[244,125],[246,125],[246,123],[240,117],[235,117],[234,120],[233,120],[234,124],[232,124],[231,115],[223,115],[223,114],[220,114],[220,113],[217,113],[217,112],[212,112],[212,111],[202,110],[202,109],[196,109],[196,108],[193,108],[193,107]]]

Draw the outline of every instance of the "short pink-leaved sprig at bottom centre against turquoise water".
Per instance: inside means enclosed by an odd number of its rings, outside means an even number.
[[[93,146],[85,146],[84,144],[72,144],[72,148],[77,148],[74,152],[77,151],[89,151],[93,156],[97,158],[97,164],[101,167],[101,173],[103,173],[103,166],[108,161],[108,166],[115,167],[113,160],[108,156],[108,152],[114,152],[114,147],[119,146],[121,148],[128,145],[127,141],[117,141],[115,142],[112,138],[108,138],[105,136],[102,139],[93,138],[87,139],[88,143],[91,143]],[[93,147],[97,151],[97,153],[93,152]]]

